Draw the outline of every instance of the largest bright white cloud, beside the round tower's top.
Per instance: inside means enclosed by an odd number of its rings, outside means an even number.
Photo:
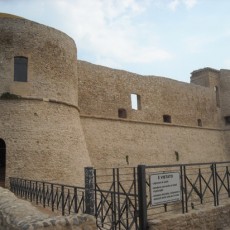
[[[56,5],[80,49],[93,54],[95,62],[116,66],[171,58],[166,50],[156,48],[151,32],[140,39],[141,25],[133,20],[146,6],[147,2],[136,0],[58,0]]]

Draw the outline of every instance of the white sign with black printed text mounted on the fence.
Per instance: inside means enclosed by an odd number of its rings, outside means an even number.
[[[150,195],[152,206],[180,201],[180,173],[163,172],[150,175]]]

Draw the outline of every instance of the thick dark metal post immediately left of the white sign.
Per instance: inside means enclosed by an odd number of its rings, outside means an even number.
[[[138,165],[137,167],[140,230],[148,228],[145,168],[145,165]]]

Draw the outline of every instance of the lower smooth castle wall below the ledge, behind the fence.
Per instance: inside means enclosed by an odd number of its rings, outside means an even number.
[[[95,167],[229,160],[219,130],[92,117],[81,123]]]

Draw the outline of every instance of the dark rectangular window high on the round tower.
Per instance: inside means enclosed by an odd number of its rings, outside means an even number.
[[[14,81],[27,82],[28,58],[14,57]]]

